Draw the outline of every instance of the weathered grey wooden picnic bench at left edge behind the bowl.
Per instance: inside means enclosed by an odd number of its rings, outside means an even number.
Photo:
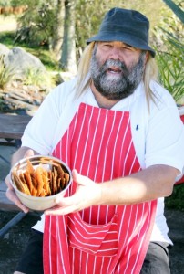
[[[15,146],[21,145],[21,138],[25,131],[27,123],[31,120],[30,116],[26,115],[11,115],[0,114],[0,145]],[[15,142],[12,142],[15,141]],[[1,155],[2,160],[5,157]],[[0,237],[4,237],[5,233],[14,227],[24,216],[25,213],[20,212],[20,209],[6,198],[5,181],[0,180],[0,210],[15,211],[17,214],[4,227],[0,229]]]

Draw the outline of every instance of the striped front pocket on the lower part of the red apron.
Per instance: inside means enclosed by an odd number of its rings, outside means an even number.
[[[76,213],[68,216],[70,247],[96,256],[116,256],[118,252],[118,216],[106,225],[89,225]]]

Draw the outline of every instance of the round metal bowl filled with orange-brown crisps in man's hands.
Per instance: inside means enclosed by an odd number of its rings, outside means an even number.
[[[10,182],[22,204],[44,211],[56,205],[72,184],[71,170],[55,157],[35,155],[20,160],[10,171]]]

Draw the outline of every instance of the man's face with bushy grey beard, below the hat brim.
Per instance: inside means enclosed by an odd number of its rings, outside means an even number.
[[[144,73],[146,53],[121,42],[100,42],[90,63],[91,79],[108,100],[121,100],[138,87]]]

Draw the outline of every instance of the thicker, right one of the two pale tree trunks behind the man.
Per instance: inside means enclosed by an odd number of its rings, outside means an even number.
[[[65,0],[64,39],[59,62],[60,68],[72,73],[77,72],[75,7],[76,0]]]

